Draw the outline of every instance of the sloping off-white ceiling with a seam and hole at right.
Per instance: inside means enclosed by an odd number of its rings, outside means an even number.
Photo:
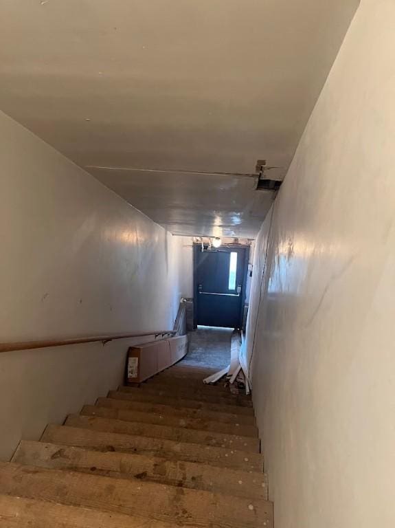
[[[359,0],[0,0],[0,109],[175,234],[254,238]],[[104,168],[92,168],[104,167]]]

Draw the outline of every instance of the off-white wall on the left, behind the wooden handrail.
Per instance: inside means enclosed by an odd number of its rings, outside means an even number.
[[[0,342],[172,329],[179,239],[3,113],[0,136]],[[114,388],[131,342],[0,354],[0,459]]]

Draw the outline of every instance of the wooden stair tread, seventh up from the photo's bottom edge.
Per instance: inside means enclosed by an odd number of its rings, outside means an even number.
[[[209,409],[193,409],[182,406],[170,406],[150,403],[149,401],[133,401],[133,399],[115,399],[115,398],[98,398],[96,405],[101,407],[110,407],[118,409],[130,409],[141,412],[150,412],[159,415],[175,416],[182,418],[196,418],[199,420],[216,421],[218,425],[221,423],[236,423],[256,429],[255,417],[251,415],[234,415],[230,412],[217,412]],[[225,431],[224,431],[225,432]],[[251,434],[252,436],[252,434]]]

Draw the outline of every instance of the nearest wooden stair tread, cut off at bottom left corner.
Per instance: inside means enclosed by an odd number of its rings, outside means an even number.
[[[0,495],[1,528],[174,528],[174,522],[147,520],[45,500]],[[178,525],[186,528],[186,524]],[[192,525],[188,524],[188,528]],[[198,527],[195,527],[198,528]]]

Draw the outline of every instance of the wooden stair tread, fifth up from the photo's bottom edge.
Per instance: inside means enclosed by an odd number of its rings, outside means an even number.
[[[84,424],[87,423],[87,427],[97,427],[100,430],[109,430],[122,434],[138,434],[143,437],[165,438],[179,442],[203,443],[204,445],[216,445],[217,447],[234,448],[255,453],[260,450],[260,441],[257,437],[189,429],[185,426],[174,427],[165,423],[133,421],[133,419],[128,420],[128,411],[100,408],[93,405],[84,406],[80,415],[69,415],[65,423],[66,425],[74,426],[74,423],[80,423],[81,421]]]

